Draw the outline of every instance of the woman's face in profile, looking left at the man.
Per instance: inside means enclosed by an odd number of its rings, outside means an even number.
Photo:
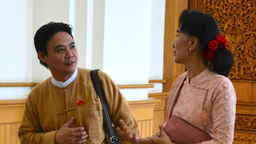
[[[189,36],[177,30],[178,35],[172,44],[174,52],[174,61],[180,64],[186,64],[189,58]]]

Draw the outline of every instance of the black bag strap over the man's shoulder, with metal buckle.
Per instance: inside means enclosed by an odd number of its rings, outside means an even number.
[[[96,94],[99,96],[102,107],[103,107],[103,110],[102,110],[103,120],[104,120],[105,125],[108,130],[108,135],[110,137],[110,143],[119,144],[120,139],[119,139],[118,134],[114,132],[115,128],[113,128],[113,126],[112,126],[112,120],[111,120],[111,117],[109,116],[109,109],[106,104],[106,99],[105,99],[104,93],[102,91],[102,86],[101,86],[99,76],[98,76],[98,70],[99,69],[90,71],[93,87],[95,89]]]

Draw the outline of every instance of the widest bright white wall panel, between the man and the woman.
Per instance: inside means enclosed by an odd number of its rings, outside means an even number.
[[[151,1],[109,0],[105,4],[103,70],[117,84],[147,84]],[[128,99],[146,99],[148,89],[121,89]]]

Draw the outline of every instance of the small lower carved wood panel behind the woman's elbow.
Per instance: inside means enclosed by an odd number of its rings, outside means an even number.
[[[256,132],[256,115],[236,114],[235,130]]]

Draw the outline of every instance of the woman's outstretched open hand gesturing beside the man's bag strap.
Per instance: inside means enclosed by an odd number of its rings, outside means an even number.
[[[141,138],[136,136],[135,132],[133,132],[124,122],[124,120],[119,120],[121,123],[121,128],[117,127],[117,132],[120,137],[122,137],[124,140],[129,141],[133,144],[140,144]]]

